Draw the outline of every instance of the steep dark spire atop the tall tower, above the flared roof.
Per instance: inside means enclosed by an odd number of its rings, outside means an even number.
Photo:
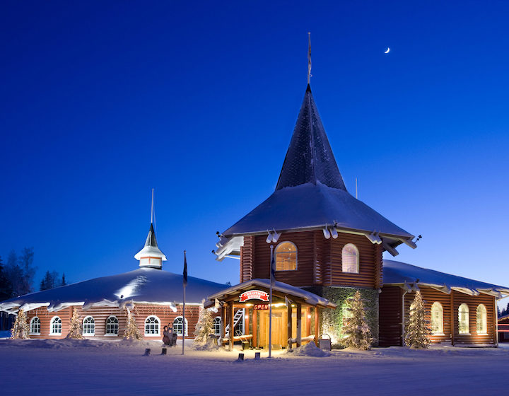
[[[346,191],[308,85],[276,190],[317,182]]]

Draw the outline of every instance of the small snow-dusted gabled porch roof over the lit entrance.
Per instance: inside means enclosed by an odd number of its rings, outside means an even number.
[[[207,299],[209,303],[205,303],[205,306],[213,305],[213,301],[215,298],[221,299],[225,296],[239,293],[240,291],[245,291],[248,289],[252,289],[253,287],[262,287],[264,289],[270,288],[270,279],[251,279],[250,281],[245,281],[242,284],[237,284],[235,286],[231,286],[228,289],[224,289],[218,291],[217,293],[211,294]],[[274,286],[272,287],[273,291],[288,294],[289,296],[295,296],[298,298],[302,298],[305,303],[310,305],[322,305],[323,307],[335,308],[336,304],[331,303],[327,298],[323,298],[317,296],[310,291],[305,291],[300,289],[300,287],[291,286],[289,284],[285,284],[283,282],[276,281]]]

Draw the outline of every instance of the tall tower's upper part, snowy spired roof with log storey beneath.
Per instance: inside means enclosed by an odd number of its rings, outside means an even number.
[[[276,190],[221,234],[217,259],[240,258],[240,281],[269,277],[294,286],[380,289],[382,252],[414,235],[347,190],[308,84]]]

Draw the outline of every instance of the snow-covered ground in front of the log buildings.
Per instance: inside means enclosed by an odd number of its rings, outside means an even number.
[[[151,356],[144,356],[151,348]],[[505,394],[509,349],[400,347],[311,357],[274,351],[160,355],[160,342],[0,340],[7,395]],[[312,349],[304,355],[314,354]]]

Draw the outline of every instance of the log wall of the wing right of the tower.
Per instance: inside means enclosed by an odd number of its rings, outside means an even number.
[[[469,296],[468,294],[452,291],[450,294],[436,291],[428,287],[420,287],[427,319],[431,322],[431,305],[438,301],[443,308],[443,334],[430,336],[433,343],[454,344],[494,344],[495,330],[495,298],[487,294]],[[399,286],[384,286],[380,293],[380,345],[401,345],[402,343],[402,296],[403,289]],[[409,309],[414,301],[415,293],[405,295],[405,322],[409,320]],[[470,334],[458,332],[458,308],[462,303],[469,307]],[[487,334],[477,334],[476,309],[479,304],[486,307]]]

